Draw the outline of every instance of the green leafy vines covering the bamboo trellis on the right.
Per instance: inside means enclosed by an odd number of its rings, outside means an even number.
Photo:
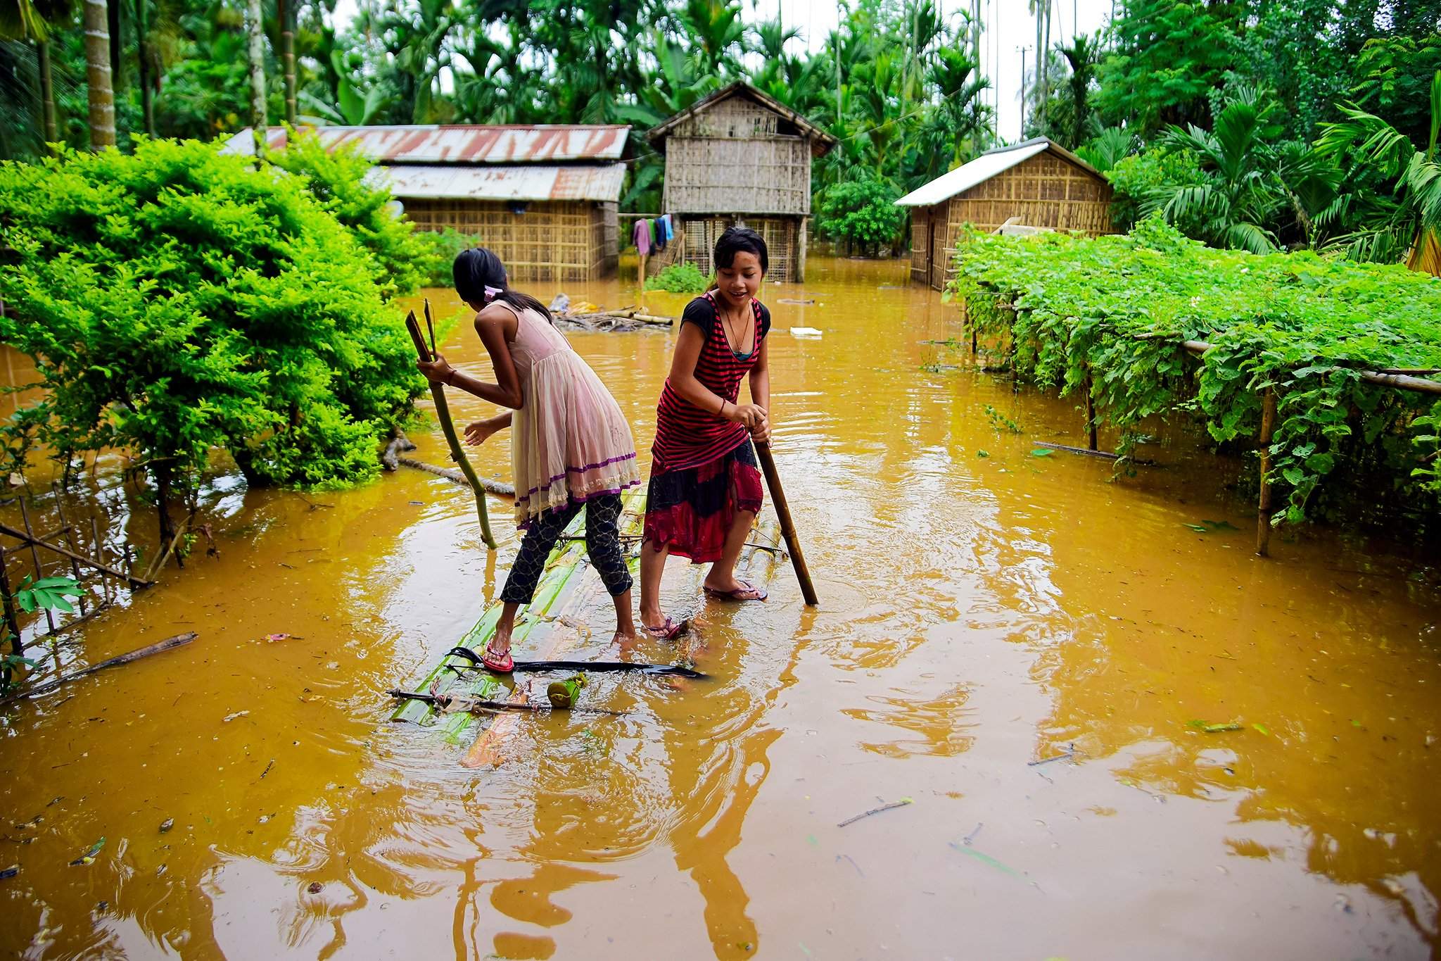
[[[1098,418],[1123,431],[1186,412],[1216,441],[1245,441],[1274,389],[1278,519],[1314,513],[1323,480],[1422,516],[1441,507],[1441,402],[1360,377],[1441,369],[1441,281],[1311,252],[1213,251],[1156,218],[1095,241],[974,236],[957,265],[953,292],[983,336],[1009,341],[1016,370],[1063,393],[1089,377]],[[1212,349],[1197,360],[1183,340]]]

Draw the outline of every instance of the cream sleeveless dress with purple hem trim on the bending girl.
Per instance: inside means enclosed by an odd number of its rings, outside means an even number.
[[[516,526],[527,527],[543,511],[640,484],[640,468],[630,425],[589,365],[542,314],[513,313],[523,402],[510,421],[510,462]]]

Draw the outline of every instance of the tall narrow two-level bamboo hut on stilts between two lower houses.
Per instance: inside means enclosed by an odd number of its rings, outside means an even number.
[[[811,160],[836,138],[749,84],[735,82],[654,127],[666,154],[664,212],[680,243],[676,258],[712,269],[710,249],[732,225],[765,238],[769,277],[806,275]],[[653,258],[659,269],[661,258]]]

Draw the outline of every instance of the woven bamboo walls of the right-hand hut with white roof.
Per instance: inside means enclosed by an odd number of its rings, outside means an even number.
[[[1040,153],[931,207],[911,213],[911,278],[944,290],[961,231],[994,231],[1010,218],[1026,226],[1115,233],[1111,184],[1050,153]],[[934,246],[931,235],[934,225]]]

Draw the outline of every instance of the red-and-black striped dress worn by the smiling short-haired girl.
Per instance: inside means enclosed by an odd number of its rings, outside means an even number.
[[[712,294],[690,301],[680,317],[682,324],[695,324],[706,337],[696,359],[696,380],[729,403],[736,402],[741,380],[751,373],[771,330],[771,311],[758,300],[751,301],[751,308],[755,337],[744,354],[731,349]],[[736,513],[761,510],[761,470],[749,429],[697,408],[666,380],[651,457],[646,540],[695,563],[719,560]]]

